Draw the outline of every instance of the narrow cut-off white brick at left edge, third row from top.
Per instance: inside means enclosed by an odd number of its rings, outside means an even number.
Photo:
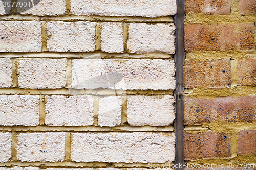
[[[0,58],[0,88],[12,86],[12,59]]]

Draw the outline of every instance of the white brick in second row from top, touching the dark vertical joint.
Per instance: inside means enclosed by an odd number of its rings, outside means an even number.
[[[130,53],[175,53],[175,26],[172,23],[130,23],[127,49]]]

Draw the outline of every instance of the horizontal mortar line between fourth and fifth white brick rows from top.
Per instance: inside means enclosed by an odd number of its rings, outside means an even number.
[[[119,126],[119,127],[100,127],[100,126],[0,126],[0,132],[174,132],[174,127],[151,127],[151,126]]]

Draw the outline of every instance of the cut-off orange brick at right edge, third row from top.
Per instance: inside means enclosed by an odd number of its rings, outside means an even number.
[[[238,61],[238,85],[256,86],[256,59]]]

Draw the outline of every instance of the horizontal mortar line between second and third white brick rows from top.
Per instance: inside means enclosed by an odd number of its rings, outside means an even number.
[[[102,59],[102,58],[120,58],[120,59],[172,59],[173,54],[164,53],[147,53],[147,54],[129,54],[129,53],[104,53],[104,52],[88,52],[88,53],[73,53],[73,52],[30,52],[30,53],[8,53],[0,52],[1,57],[7,58],[86,58],[86,59]]]

